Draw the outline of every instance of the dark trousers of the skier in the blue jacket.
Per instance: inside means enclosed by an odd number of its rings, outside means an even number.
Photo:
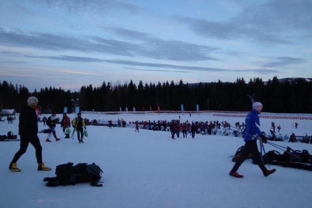
[[[253,153],[254,157],[254,163],[259,166],[259,168],[262,170],[262,172],[267,171],[267,168],[263,165],[261,159],[260,159],[260,153],[257,146],[257,140],[251,140],[245,142],[244,149],[242,153],[240,154],[239,158],[237,159],[233,169],[231,171],[236,172],[240,165],[245,161],[245,159],[248,157],[249,153]]]

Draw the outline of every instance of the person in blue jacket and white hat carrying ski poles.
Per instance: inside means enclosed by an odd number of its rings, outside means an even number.
[[[246,116],[245,119],[246,130],[244,136],[245,146],[239,158],[237,159],[233,169],[229,173],[231,176],[234,176],[236,178],[243,177],[243,175],[238,174],[237,170],[240,167],[240,165],[245,161],[245,159],[248,157],[250,152],[253,153],[254,163],[259,166],[265,177],[275,172],[275,169],[267,170],[267,168],[263,165],[261,161],[261,155],[258,151],[257,146],[258,137],[261,138],[263,143],[267,143],[267,138],[262,134],[262,132],[258,127],[260,126],[259,114],[262,111],[262,108],[263,105],[260,102],[254,102],[252,111],[248,113],[248,115]]]

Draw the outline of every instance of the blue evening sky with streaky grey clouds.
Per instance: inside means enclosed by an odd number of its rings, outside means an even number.
[[[0,81],[312,77],[312,0],[1,0]]]

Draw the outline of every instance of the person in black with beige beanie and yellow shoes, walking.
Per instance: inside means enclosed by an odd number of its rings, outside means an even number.
[[[29,97],[27,99],[28,106],[20,112],[19,135],[20,135],[20,150],[16,152],[13,160],[10,163],[9,169],[14,172],[19,172],[20,169],[16,166],[20,156],[24,154],[27,147],[32,144],[36,150],[36,158],[38,162],[38,170],[51,170],[42,162],[42,147],[38,138],[38,122],[37,114],[35,111],[38,105],[36,97]]]

